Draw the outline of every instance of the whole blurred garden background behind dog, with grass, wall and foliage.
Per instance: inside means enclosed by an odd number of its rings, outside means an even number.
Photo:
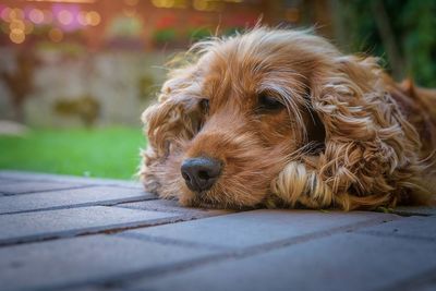
[[[0,169],[132,178],[165,63],[258,20],[436,86],[434,0],[0,0]]]

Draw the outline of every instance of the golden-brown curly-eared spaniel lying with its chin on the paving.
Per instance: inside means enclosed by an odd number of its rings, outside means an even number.
[[[377,62],[307,31],[195,44],[142,116],[145,189],[206,208],[428,203],[436,92]]]

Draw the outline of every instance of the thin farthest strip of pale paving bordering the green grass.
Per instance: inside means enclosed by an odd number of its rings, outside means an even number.
[[[49,174],[49,173],[36,173],[25,171],[11,171],[0,170],[0,179],[20,180],[20,181],[51,181],[51,182],[68,182],[68,183],[81,183],[86,185],[110,185],[110,186],[125,186],[142,189],[141,182],[135,180],[113,180],[102,178],[84,178],[76,175],[66,174]]]

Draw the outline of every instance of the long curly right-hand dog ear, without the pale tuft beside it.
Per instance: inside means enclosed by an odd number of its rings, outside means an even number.
[[[368,207],[396,197],[389,193],[413,187],[420,170],[419,135],[395,105],[386,77],[373,58],[338,57],[311,86],[326,133],[318,178],[346,209],[367,193],[373,198],[359,203]]]

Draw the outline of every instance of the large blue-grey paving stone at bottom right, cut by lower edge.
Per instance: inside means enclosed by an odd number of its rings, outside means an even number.
[[[123,290],[379,290],[436,266],[436,245],[358,233],[202,265]]]

